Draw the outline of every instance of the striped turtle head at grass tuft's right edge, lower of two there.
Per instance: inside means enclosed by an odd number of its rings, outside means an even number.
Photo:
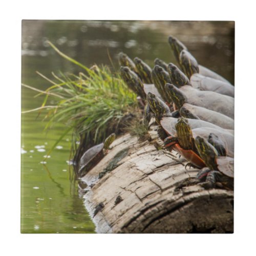
[[[144,100],[146,98],[146,94],[144,92],[144,84],[138,75],[129,67],[121,67],[120,71],[121,77],[127,86]]]

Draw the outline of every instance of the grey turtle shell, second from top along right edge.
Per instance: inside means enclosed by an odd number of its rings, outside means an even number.
[[[190,83],[191,86],[201,91],[212,91],[234,97],[234,87],[230,83],[226,83],[200,74],[193,74],[190,77]]]

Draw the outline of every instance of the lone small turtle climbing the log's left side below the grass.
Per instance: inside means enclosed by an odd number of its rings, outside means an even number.
[[[92,169],[108,152],[110,144],[115,140],[116,135],[112,133],[105,139],[104,143],[95,145],[87,150],[81,157],[79,162],[78,174],[84,176]]]

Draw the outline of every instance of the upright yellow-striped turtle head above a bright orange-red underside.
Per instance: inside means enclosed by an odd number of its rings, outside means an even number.
[[[190,125],[188,124],[187,119],[184,117],[178,118],[178,121],[175,125],[177,132],[177,137],[180,143],[180,146],[184,150],[193,150],[194,148],[194,139],[193,133],[191,131]]]

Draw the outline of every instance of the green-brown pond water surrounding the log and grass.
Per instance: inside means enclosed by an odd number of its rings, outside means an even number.
[[[120,51],[140,57],[153,67],[154,59],[175,62],[168,35],[178,37],[198,62],[234,82],[234,23],[232,22],[124,22],[23,20],[22,82],[46,90],[50,82],[36,71],[52,78],[51,72],[78,73],[78,67],[61,58],[59,50],[83,65],[103,63],[118,68]],[[22,111],[38,108],[43,96],[22,87]],[[49,101],[47,104],[53,102]],[[60,137],[65,124],[44,131],[46,112],[22,114],[22,233],[93,233],[94,224],[79,197],[69,163],[71,134],[65,136],[50,157],[48,151]]]

